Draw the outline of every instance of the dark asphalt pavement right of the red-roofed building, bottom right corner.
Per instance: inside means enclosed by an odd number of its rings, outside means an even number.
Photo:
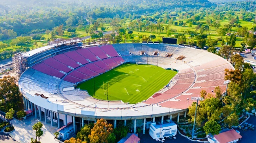
[[[254,126],[256,126],[256,116],[250,116],[247,123],[250,123]],[[236,129],[239,130],[239,129]],[[255,143],[256,142],[256,130],[239,130],[240,135],[242,136],[242,139],[238,143]]]

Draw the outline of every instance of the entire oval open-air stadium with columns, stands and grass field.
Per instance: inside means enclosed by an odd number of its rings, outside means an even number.
[[[191,97],[200,97],[203,89],[214,94],[219,86],[225,92],[224,69],[234,69],[220,56],[190,45],[84,47],[80,39],[58,39],[13,61],[26,109],[45,123],[58,128],[73,123],[76,130],[100,118],[113,127],[132,120],[134,132],[142,127],[143,133],[148,123],[174,117],[178,122],[194,102]]]

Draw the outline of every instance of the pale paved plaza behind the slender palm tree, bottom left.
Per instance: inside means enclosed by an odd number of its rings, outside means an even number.
[[[35,138],[35,131],[32,130],[32,126],[37,123],[39,119],[35,118],[33,115],[28,117],[24,121],[13,120],[13,126],[15,131],[10,133],[10,136],[20,143],[30,143],[31,138]],[[54,132],[56,132],[57,127],[52,127],[50,123],[43,123],[43,136],[41,136],[41,143],[58,143],[54,140]]]

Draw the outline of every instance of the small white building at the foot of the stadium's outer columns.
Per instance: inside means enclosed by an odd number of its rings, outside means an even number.
[[[177,134],[177,125],[171,121],[171,123],[156,124],[151,123],[149,135],[153,139],[160,139],[170,137]]]

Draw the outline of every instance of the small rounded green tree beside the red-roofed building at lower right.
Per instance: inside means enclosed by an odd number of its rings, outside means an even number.
[[[221,131],[221,125],[219,125],[216,121],[210,120],[205,123],[204,125],[204,131],[206,134],[219,134]]]

